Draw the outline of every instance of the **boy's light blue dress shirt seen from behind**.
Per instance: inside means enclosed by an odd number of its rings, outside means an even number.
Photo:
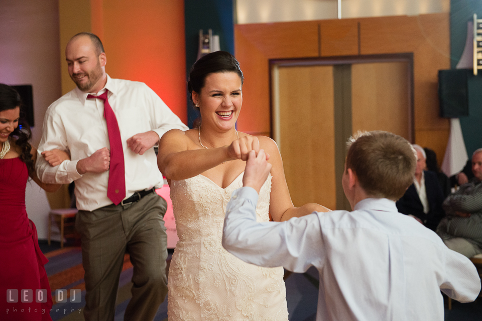
[[[286,222],[257,223],[258,194],[233,192],[222,244],[240,259],[320,275],[317,320],[444,319],[442,290],[461,301],[480,291],[474,265],[395,202],[368,198],[353,212],[314,212]]]

